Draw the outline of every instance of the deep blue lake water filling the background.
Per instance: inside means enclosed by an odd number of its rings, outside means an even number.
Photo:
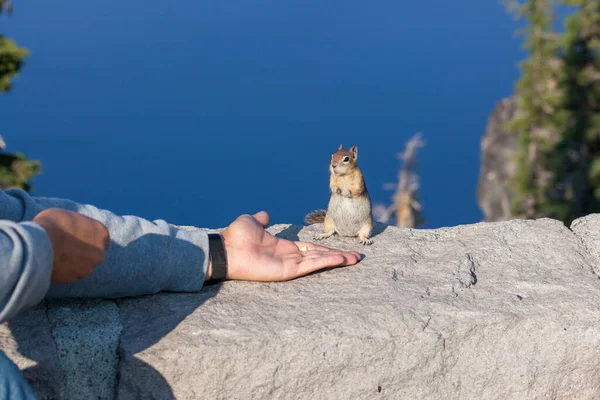
[[[27,2],[0,33],[32,51],[0,96],[35,194],[206,227],[302,223],[357,145],[375,202],[415,132],[425,228],[481,220],[480,140],[524,57],[499,1]]]

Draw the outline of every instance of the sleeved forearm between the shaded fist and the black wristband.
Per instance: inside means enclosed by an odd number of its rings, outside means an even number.
[[[106,211],[100,216],[86,215],[108,228],[111,241],[106,259],[75,284],[53,284],[48,297],[114,298],[202,288],[207,268],[206,233]]]

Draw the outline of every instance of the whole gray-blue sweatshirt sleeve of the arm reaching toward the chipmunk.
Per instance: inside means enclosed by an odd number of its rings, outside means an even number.
[[[117,298],[202,289],[208,267],[205,231],[176,229],[163,220],[118,216],[66,199],[32,197],[20,189],[0,191],[0,220],[31,221],[47,208],[75,211],[102,222],[108,228],[111,242],[106,260],[90,276],[74,284],[50,284],[44,293],[46,297]],[[2,268],[23,270],[15,261]],[[5,292],[3,286],[4,283],[0,283],[2,293]],[[43,291],[42,286],[39,289]],[[21,294],[17,291],[13,296]],[[0,303],[0,307],[3,306],[4,303]]]

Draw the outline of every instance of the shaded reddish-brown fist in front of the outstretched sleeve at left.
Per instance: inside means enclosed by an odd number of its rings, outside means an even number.
[[[52,243],[52,282],[77,282],[104,261],[110,236],[100,222],[56,208],[40,212],[33,222],[46,231]]]

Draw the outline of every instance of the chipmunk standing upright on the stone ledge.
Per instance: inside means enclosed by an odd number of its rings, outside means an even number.
[[[342,144],[331,155],[329,164],[329,188],[331,197],[327,210],[317,210],[306,215],[308,224],[323,222],[325,232],[315,240],[326,239],[337,233],[340,236],[357,237],[361,244],[373,244],[371,198],[358,167],[358,148],[344,150]]]

